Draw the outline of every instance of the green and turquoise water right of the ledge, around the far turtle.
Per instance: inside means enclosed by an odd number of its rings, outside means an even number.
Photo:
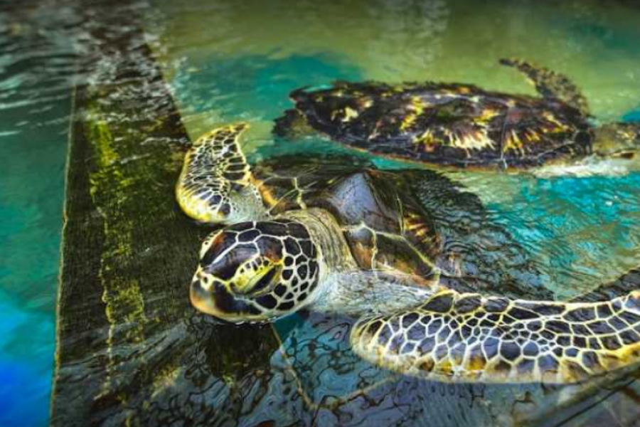
[[[156,1],[162,16],[149,30],[192,137],[244,120],[253,125],[249,151],[336,149],[321,139],[283,149],[270,130],[292,106],[290,90],[340,79],[454,81],[535,95],[522,75],[498,65],[504,57],[565,73],[582,89],[597,122],[631,120],[640,107],[640,10],[622,4],[287,4]],[[260,154],[257,149],[254,158]],[[562,171],[451,176],[481,196],[496,221],[537,255],[548,287],[567,297],[639,265],[637,170],[603,162],[587,177]]]

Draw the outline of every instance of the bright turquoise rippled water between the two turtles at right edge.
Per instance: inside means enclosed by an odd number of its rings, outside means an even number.
[[[607,283],[640,260],[640,174],[553,177],[467,174],[499,222],[538,254],[559,297]]]

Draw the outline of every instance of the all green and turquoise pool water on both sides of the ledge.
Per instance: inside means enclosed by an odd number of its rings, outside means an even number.
[[[568,75],[599,122],[640,120],[640,9],[633,2],[136,5],[191,137],[248,121],[252,161],[283,149],[270,130],[291,106],[294,88],[336,79],[428,79],[533,95],[521,75],[497,65],[509,56]],[[73,2],[0,7],[0,425],[43,425],[48,418],[70,93],[84,78],[75,64],[90,43],[88,29]],[[285,149],[301,147],[336,149],[321,139]],[[640,264],[640,173],[618,164],[599,170],[587,177],[451,176],[479,194],[535,254],[548,287],[567,297]],[[309,322],[331,332],[319,341],[327,349],[343,333],[323,319]],[[289,339],[299,333],[287,322],[277,327],[283,335],[293,328]],[[314,372],[308,354],[296,356],[298,371]],[[318,394],[312,400],[338,392],[314,388],[311,374],[302,381]],[[355,387],[334,385],[341,393]]]

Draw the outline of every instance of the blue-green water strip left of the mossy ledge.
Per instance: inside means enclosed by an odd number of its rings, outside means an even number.
[[[0,9],[0,426],[42,426],[55,349],[73,55],[65,14]]]

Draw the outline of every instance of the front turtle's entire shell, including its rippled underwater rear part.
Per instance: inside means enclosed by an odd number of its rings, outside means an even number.
[[[439,172],[383,171],[343,155],[287,155],[252,165],[252,173],[273,215],[331,212],[363,270],[390,268],[426,283],[436,265],[442,284],[461,292],[553,297],[526,251],[491,221],[477,196]]]

